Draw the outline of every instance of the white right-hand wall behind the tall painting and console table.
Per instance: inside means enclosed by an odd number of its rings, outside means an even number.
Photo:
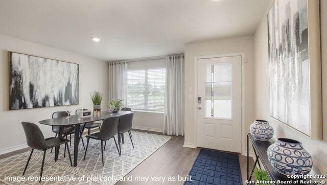
[[[321,2],[321,53],[324,138],[327,134],[327,1]],[[269,116],[269,66],[267,17],[264,16],[254,35],[255,57],[255,118],[268,120],[274,128],[274,138],[289,137],[302,142],[313,157],[313,174],[327,174],[327,142],[310,140],[307,136]]]

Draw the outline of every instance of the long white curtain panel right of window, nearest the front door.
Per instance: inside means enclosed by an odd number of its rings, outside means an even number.
[[[184,56],[166,59],[164,134],[184,135]]]

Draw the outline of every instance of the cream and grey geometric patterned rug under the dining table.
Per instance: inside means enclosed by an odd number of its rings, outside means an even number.
[[[86,145],[86,139],[84,143]],[[47,150],[45,155],[43,177],[50,179],[49,181],[42,181],[41,184],[114,184],[132,171],[137,165],[141,164],[143,160],[148,158],[153,152],[159,149],[162,145],[170,140],[171,136],[147,133],[142,131],[132,130],[132,139],[134,148],[130,143],[128,134],[125,134],[125,144],[121,144],[122,155],[116,149],[113,139],[107,141],[104,157],[104,167],[102,166],[101,158],[101,144],[100,141],[89,141],[87,154],[85,160],[84,148],[80,142],[78,152],[77,167],[71,167],[69,157],[63,157],[64,145],[61,146],[57,162],[54,160],[54,152],[50,153]],[[116,141],[118,138],[116,137]],[[72,140],[72,144],[74,141]],[[74,155],[73,145],[69,147],[72,155]],[[42,151],[34,150],[30,160],[28,169],[24,177],[25,181],[19,179],[11,179],[16,181],[7,181],[5,177],[21,177],[24,171],[30,151],[7,157],[0,160],[0,184],[33,184],[30,177],[38,177],[40,174],[42,163]],[[72,179],[75,178],[74,181]],[[71,180],[71,181],[69,181]]]

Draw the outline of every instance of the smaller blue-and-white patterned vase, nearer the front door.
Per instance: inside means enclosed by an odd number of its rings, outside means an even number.
[[[260,141],[268,141],[274,135],[274,129],[266,120],[254,120],[250,125],[251,135]]]

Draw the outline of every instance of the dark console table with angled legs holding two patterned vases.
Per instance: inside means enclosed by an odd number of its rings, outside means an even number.
[[[255,155],[255,161],[254,161],[254,166],[249,173],[249,142],[251,142],[252,147],[254,149],[254,155]],[[254,137],[250,134],[247,133],[247,180],[251,180],[253,170],[256,166],[256,164],[259,165],[261,168],[261,165],[264,167],[264,169],[268,172],[268,175],[271,180],[277,181],[277,180],[294,180],[291,178],[287,178],[287,176],[282,175],[278,173],[269,163],[268,161],[268,156],[267,156],[267,149],[268,147],[273,144],[274,141],[271,139],[269,141],[258,141],[255,140]],[[259,161],[260,159],[260,161]],[[300,180],[310,180],[310,179],[300,179]],[[276,183],[277,184],[277,183]],[[307,184],[312,184],[312,183],[307,183]]]

